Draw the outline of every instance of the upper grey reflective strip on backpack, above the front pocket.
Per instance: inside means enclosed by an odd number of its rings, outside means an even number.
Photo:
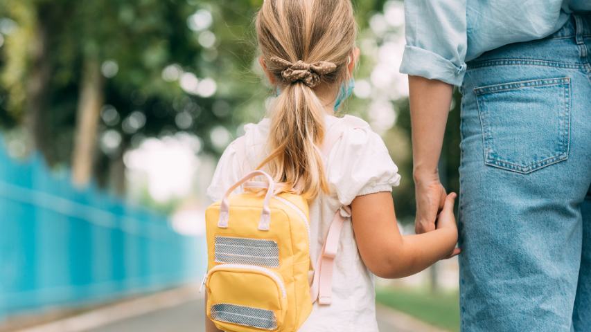
[[[279,247],[272,240],[215,237],[213,251],[218,263],[279,267]]]

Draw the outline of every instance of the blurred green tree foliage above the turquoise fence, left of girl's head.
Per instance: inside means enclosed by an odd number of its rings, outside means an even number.
[[[123,149],[132,136],[158,136],[179,130],[175,116],[190,110],[194,124],[182,130],[192,131],[204,140],[206,151],[213,125],[229,129],[262,116],[261,104],[267,89],[260,75],[252,71],[256,41],[252,21],[262,0],[249,1],[159,1],[159,0],[6,0],[0,17],[16,22],[14,34],[6,36],[0,71],[2,88],[0,119],[5,127],[24,124],[27,117],[28,77],[38,70],[31,63],[31,50],[39,31],[46,36],[45,61],[51,73],[46,86],[44,139],[60,142],[58,148],[43,151],[55,163],[68,163],[72,128],[80,90],[82,63],[87,57],[114,62],[116,75],[105,80],[105,104],[111,104],[125,119],[133,111],[145,116],[145,126],[133,133],[118,124],[103,124],[103,131],[116,129],[123,136]],[[355,1],[363,26],[383,1]],[[206,49],[197,42],[198,33],[187,26],[188,17],[198,9],[213,15],[216,44]],[[166,82],[161,73],[169,64],[177,64],[197,77],[218,80],[214,98],[198,98],[184,93],[177,82]],[[233,109],[231,114],[215,116],[216,100]],[[258,104],[255,107],[254,104]],[[254,109],[259,114],[254,116]],[[229,113],[229,112],[226,112]],[[219,113],[218,113],[219,114]],[[231,130],[233,131],[233,130]],[[65,146],[64,146],[65,145]],[[53,145],[56,146],[56,145]],[[120,151],[121,152],[121,151]],[[220,151],[213,151],[219,153]]]

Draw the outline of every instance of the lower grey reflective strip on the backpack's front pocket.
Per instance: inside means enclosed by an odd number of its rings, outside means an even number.
[[[265,330],[277,328],[277,321],[273,311],[249,306],[237,306],[236,304],[213,304],[211,306],[211,319]]]

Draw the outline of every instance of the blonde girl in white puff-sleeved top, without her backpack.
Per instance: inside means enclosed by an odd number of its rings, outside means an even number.
[[[351,206],[333,271],[333,300],[315,304],[299,331],[378,331],[373,275],[398,278],[455,255],[455,194],[448,195],[437,228],[401,236],[392,186],[400,175],[380,136],[353,116],[335,117],[351,93],[359,55],[350,0],[266,0],[256,17],[261,66],[279,95],[269,117],[249,124],[227,147],[208,189],[224,191],[257,167],[288,183],[310,203],[312,261],[335,211]],[[326,156],[328,133],[339,133]],[[217,331],[208,322],[207,331]]]

